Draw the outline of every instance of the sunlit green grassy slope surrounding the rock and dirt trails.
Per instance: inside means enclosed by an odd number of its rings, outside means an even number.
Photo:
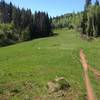
[[[74,99],[84,100],[86,91],[79,50],[83,48],[89,58],[89,63],[100,70],[100,39],[87,42],[82,40],[79,33],[74,30],[63,29],[55,32],[58,33],[55,37],[0,48],[2,98],[13,91],[16,95],[7,96],[7,98],[11,97],[11,100],[23,100],[28,96],[32,100],[38,96],[45,98],[46,83],[56,76],[64,76],[71,84]],[[91,72],[90,76],[95,93],[100,98],[99,80],[94,81],[94,75]]]

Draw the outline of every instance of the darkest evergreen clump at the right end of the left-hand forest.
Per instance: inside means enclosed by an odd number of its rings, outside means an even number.
[[[44,37],[51,33],[51,23],[48,14],[44,12],[35,12],[35,36]]]

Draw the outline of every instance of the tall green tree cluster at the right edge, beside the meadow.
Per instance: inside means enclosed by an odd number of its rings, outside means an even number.
[[[98,0],[94,4],[91,0],[86,0],[81,27],[83,35],[100,36],[100,5]]]

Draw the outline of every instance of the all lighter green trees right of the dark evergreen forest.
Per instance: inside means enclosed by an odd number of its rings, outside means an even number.
[[[52,19],[53,28],[76,29],[88,37],[100,37],[100,4],[85,0],[84,11],[57,16]]]

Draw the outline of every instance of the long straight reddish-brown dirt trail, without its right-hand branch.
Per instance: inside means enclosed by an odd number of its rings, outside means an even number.
[[[87,63],[86,60],[86,56],[83,53],[83,50],[80,50],[80,61],[82,63],[83,69],[84,69],[84,82],[86,85],[86,90],[87,90],[87,99],[88,100],[96,100],[95,96],[94,96],[94,92],[93,92],[93,88],[88,76],[88,69],[89,69],[89,65]]]

